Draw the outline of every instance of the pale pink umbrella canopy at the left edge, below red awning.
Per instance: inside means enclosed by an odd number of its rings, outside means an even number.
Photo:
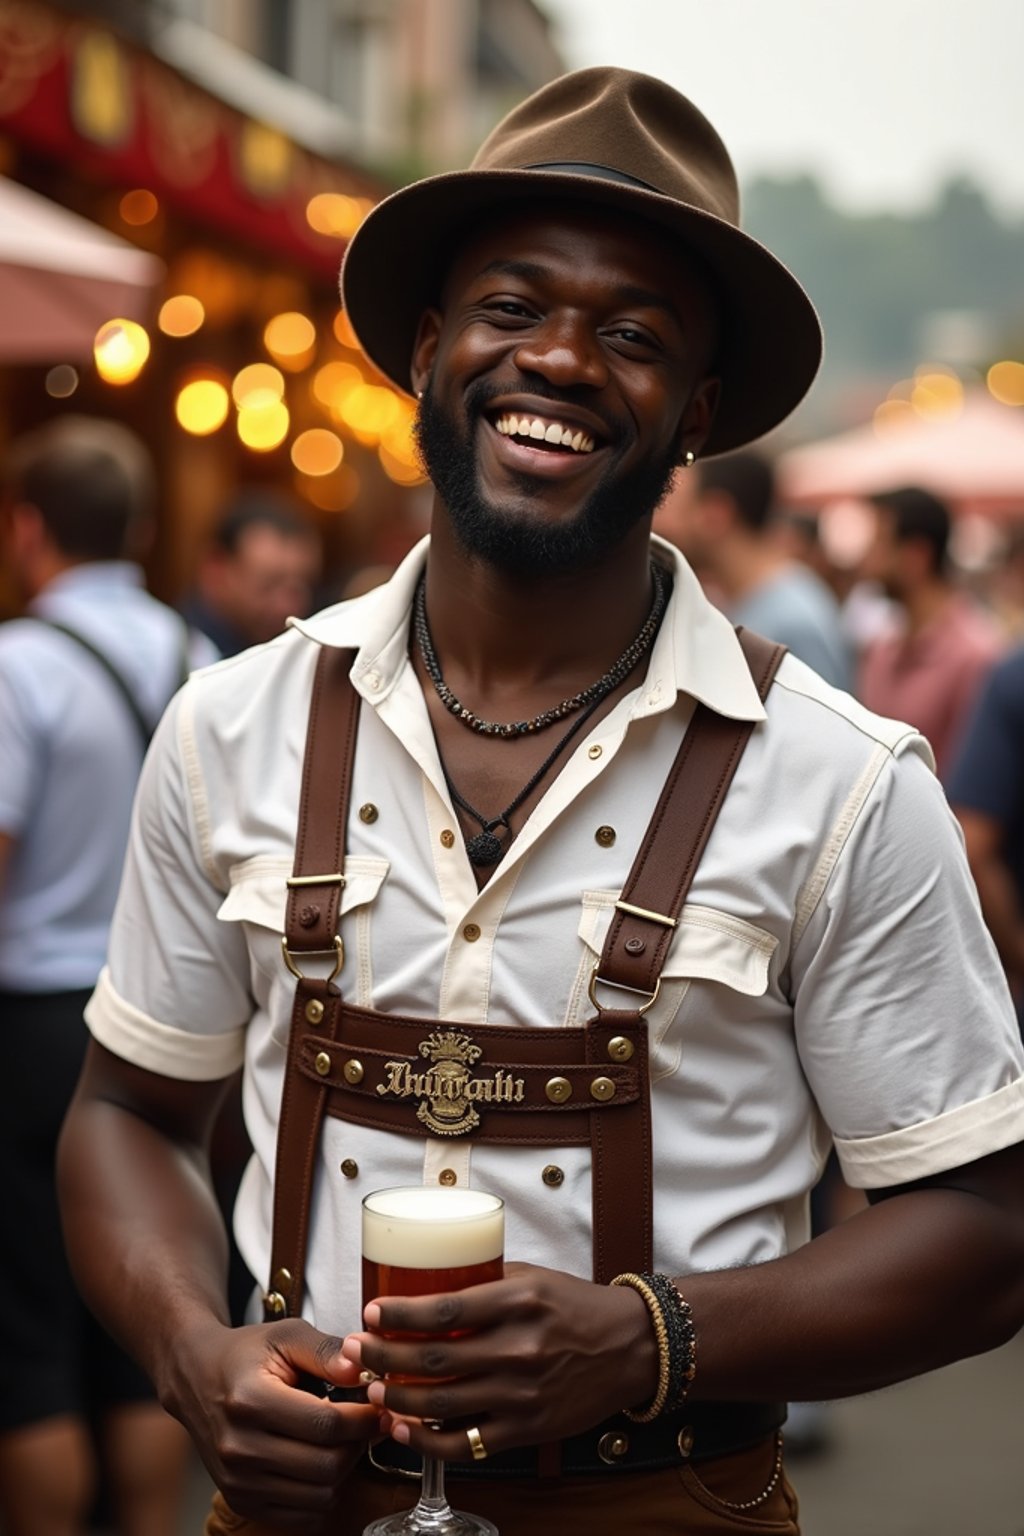
[[[0,177],[0,362],[78,361],[107,319],[141,319],[164,267]]]

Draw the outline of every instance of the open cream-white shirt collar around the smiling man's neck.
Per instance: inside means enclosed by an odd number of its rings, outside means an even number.
[[[765,707],[735,630],[708,602],[679,550],[657,536],[651,545],[672,571],[672,598],[634,717],[669,710],[676,696],[685,693],[731,720],[763,720]],[[310,619],[289,619],[290,628],[318,645],[356,650],[352,680],[373,703],[387,697],[405,664],[408,614],[428,548],[430,539],[421,539],[382,587],[324,608]]]

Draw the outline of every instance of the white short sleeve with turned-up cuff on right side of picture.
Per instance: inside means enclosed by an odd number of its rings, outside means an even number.
[[[804,1074],[847,1183],[886,1187],[1024,1140],[1024,1055],[960,829],[890,757],[794,957]]]

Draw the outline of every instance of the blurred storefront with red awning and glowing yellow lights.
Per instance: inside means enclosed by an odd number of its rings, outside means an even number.
[[[31,361],[0,356],[0,452],[58,410],[135,427],[160,465],[150,558],[160,596],[181,594],[200,541],[239,484],[301,496],[324,535],[327,596],[358,568],[391,564],[419,535],[427,493],[413,406],[356,349],[336,276],[347,238],[405,164],[430,169],[451,151],[450,114],[430,151],[408,69],[418,58],[441,89],[444,49],[430,38],[450,37],[470,11],[476,31],[451,57],[464,75],[487,77],[497,115],[539,80],[519,81],[522,60],[502,61],[508,20],[485,0],[0,0],[0,174],[166,269],[137,323],[109,316],[94,356],[71,341]],[[385,57],[378,34],[388,20]],[[356,23],[365,49],[339,55],[339,35],[356,48]],[[537,37],[545,28],[534,28],[525,74],[547,78],[557,55],[537,51]],[[309,75],[318,57],[335,68],[309,84],[281,72]],[[348,112],[316,94],[341,89],[342,65],[356,92]],[[419,103],[401,117],[415,134],[390,146],[378,138],[379,154],[361,117],[373,78],[388,101]],[[470,101],[471,80],[450,95]],[[467,135],[476,129],[464,124]]]

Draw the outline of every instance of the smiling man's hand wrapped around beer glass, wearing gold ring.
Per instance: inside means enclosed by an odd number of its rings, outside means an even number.
[[[368,1396],[396,1441],[444,1461],[470,1459],[465,1427],[431,1430],[424,1419],[476,1425],[499,1452],[576,1435],[648,1401],[657,1381],[654,1332],[634,1290],[536,1264],[508,1264],[505,1279],[468,1290],[381,1298],[364,1318],[375,1332],[350,1335],[342,1359],[416,1378],[375,1381]]]

